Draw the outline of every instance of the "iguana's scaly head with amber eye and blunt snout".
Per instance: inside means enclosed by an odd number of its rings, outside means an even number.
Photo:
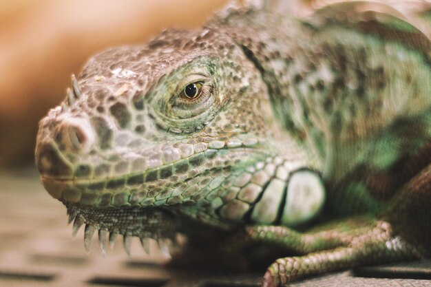
[[[41,180],[75,232],[87,223],[88,233],[170,237],[173,214],[231,226],[242,222],[223,209],[235,180],[274,153],[265,101],[257,69],[211,29],[106,50],[39,123]],[[123,215],[135,220],[115,222]]]

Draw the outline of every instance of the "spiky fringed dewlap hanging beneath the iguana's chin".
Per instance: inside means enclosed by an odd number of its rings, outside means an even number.
[[[114,245],[118,235],[123,235],[125,251],[130,255],[133,237],[139,237],[144,250],[149,252],[149,239],[156,240],[160,249],[175,242],[178,219],[171,212],[161,208],[123,207],[98,209],[63,202],[67,207],[69,223],[73,222],[72,235],[85,224],[84,244],[90,250],[92,237],[98,231],[98,242],[103,254],[106,244]]]

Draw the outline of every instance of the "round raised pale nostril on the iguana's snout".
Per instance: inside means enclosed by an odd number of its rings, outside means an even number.
[[[65,148],[77,153],[90,151],[94,144],[94,133],[87,120],[68,118],[61,125]]]

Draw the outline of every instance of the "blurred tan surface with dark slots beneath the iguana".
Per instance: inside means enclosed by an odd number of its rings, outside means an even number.
[[[83,228],[72,240],[66,221],[65,208],[43,190],[34,169],[0,172],[0,286],[260,286],[260,274],[167,270],[162,264],[169,258],[156,244],[149,256],[138,240],[132,257],[123,251],[121,238],[103,257],[94,236],[87,254]],[[431,261],[345,271],[291,286],[431,286]]]

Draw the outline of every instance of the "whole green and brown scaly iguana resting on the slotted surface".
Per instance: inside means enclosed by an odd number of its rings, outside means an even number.
[[[263,286],[430,257],[429,19],[368,5],[229,8],[93,56],[36,138],[73,235],[287,250]]]

